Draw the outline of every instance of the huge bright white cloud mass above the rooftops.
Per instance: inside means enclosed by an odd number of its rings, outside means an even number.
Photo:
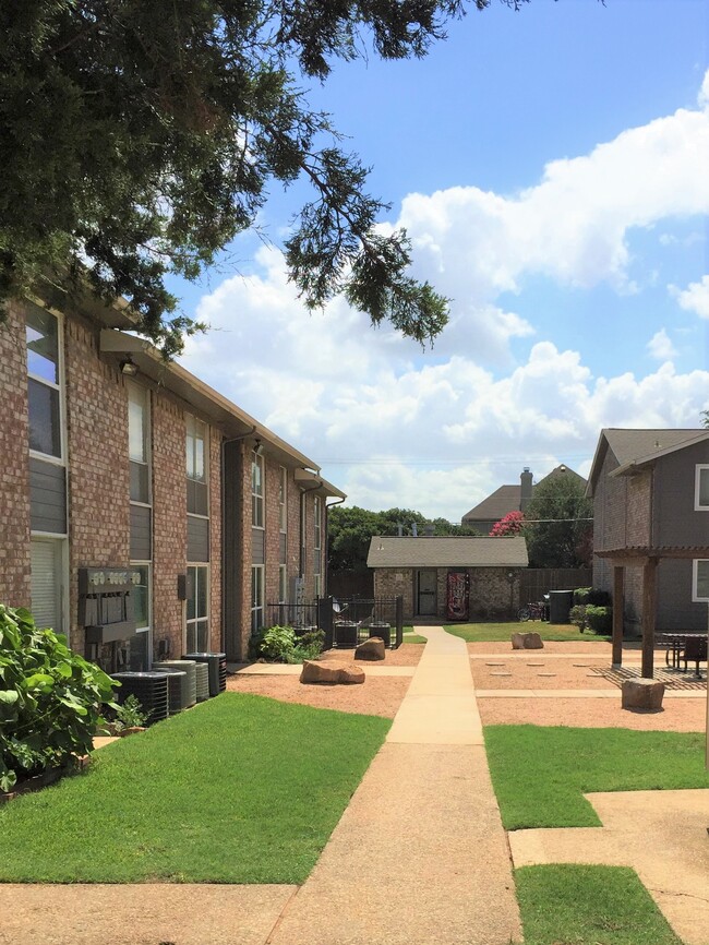
[[[189,342],[183,362],[322,464],[352,504],[459,519],[522,466],[538,478],[558,463],[587,473],[602,427],[697,426],[709,371],[677,373],[664,328],[647,345],[664,363],[646,376],[594,375],[581,351],[544,338],[515,361],[510,348],[534,327],[498,297],[538,275],[633,290],[628,234],[708,213],[707,166],[709,111],[680,110],[550,163],[515,195],[409,195],[398,224],[417,274],[455,300],[425,357],[341,299],[308,313],[280,254],[262,249],[257,274],[202,299],[197,318],[213,331]],[[709,277],[676,295],[709,318]]]

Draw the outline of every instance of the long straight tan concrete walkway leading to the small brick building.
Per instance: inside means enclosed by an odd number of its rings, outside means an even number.
[[[467,647],[441,627],[269,945],[521,941]]]

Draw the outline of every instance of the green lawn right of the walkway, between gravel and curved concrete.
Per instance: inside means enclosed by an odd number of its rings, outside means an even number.
[[[489,726],[484,735],[508,830],[598,826],[588,791],[709,788],[699,732]]]

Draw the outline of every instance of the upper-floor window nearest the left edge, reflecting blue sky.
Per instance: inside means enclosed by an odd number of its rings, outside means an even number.
[[[27,306],[27,400],[29,448],[62,459],[59,322],[38,306]]]

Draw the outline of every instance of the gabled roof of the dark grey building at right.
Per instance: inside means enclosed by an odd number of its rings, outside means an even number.
[[[609,428],[601,430],[589,475],[587,495],[593,494],[608,450],[611,450],[618,462],[618,468],[610,475],[627,476],[632,475],[635,469],[654,463],[661,456],[693,446],[695,443],[701,443],[704,440],[709,440],[709,430],[696,428],[684,430]]]

